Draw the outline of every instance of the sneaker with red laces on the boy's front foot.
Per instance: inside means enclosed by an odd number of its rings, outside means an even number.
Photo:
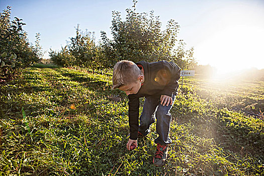
[[[157,144],[156,153],[153,157],[153,164],[155,166],[165,165],[167,159],[167,152],[168,152],[168,144],[166,145]]]

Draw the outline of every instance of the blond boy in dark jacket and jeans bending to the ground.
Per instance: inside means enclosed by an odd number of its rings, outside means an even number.
[[[117,62],[113,70],[113,89],[125,91],[129,99],[129,127],[130,137],[127,149],[131,145],[137,147],[138,135],[146,136],[150,132],[150,125],[156,123],[156,132],[159,135],[154,142],[157,144],[153,163],[156,166],[165,164],[167,158],[169,127],[175,95],[178,89],[180,68],[173,62],[158,61],[148,63],[123,60]],[[139,98],[145,97],[143,111],[139,116]]]

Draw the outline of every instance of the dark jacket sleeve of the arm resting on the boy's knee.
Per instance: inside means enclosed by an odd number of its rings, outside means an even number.
[[[177,92],[178,80],[180,79],[181,69],[174,62],[163,61],[163,70],[159,73],[159,77],[164,81],[164,90],[161,91],[161,95],[171,97],[173,92]]]

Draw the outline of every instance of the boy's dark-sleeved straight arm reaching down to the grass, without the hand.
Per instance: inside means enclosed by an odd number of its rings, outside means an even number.
[[[137,140],[138,133],[138,115],[139,115],[139,98],[128,96],[128,121],[130,127],[130,139]]]

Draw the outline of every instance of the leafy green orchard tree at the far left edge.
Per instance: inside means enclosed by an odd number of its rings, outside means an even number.
[[[15,17],[10,20],[11,7],[0,13],[0,76],[10,77],[21,67],[39,61],[39,49],[31,46],[27,33],[22,29],[25,23]]]

